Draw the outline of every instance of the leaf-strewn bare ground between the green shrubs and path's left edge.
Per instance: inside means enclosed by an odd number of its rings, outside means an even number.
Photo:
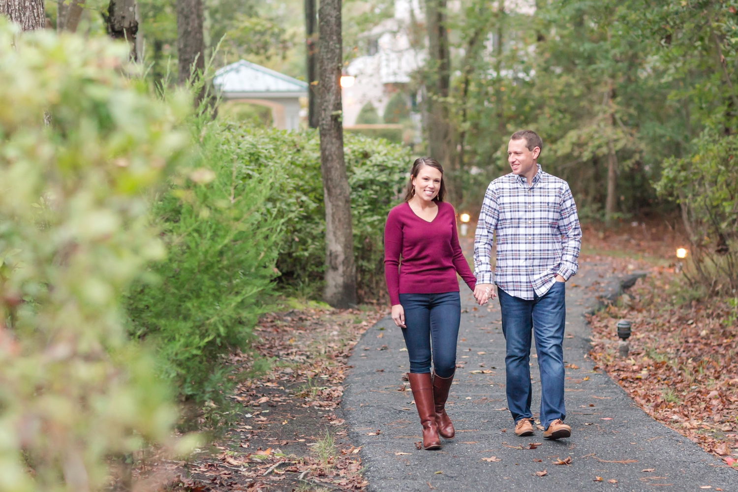
[[[347,359],[384,310],[293,309],[272,313],[255,328],[252,349],[272,367],[244,378],[232,395],[242,413],[231,429],[190,462],[164,462],[170,491],[258,492],[303,484],[360,491],[360,448],[347,440],[338,408]],[[255,358],[233,353],[234,377],[252,375]],[[339,415],[337,415],[337,413]],[[186,478],[185,478],[186,477]]]

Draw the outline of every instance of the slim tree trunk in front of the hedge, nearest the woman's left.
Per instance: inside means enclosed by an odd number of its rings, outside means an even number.
[[[325,195],[325,302],[334,308],[356,304],[351,190],[343,159],[341,105],[341,0],[321,0],[320,30],[320,170]]]

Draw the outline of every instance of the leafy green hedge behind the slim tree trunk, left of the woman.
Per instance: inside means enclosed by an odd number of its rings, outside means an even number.
[[[281,288],[319,297],[325,261],[325,209],[317,132],[228,123],[218,135],[215,140],[229,143],[221,145],[217,158],[210,159],[211,169],[218,173],[216,169],[222,165],[224,173],[230,173],[230,163],[238,162],[249,176],[269,176],[269,195],[263,198],[263,207],[282,221],[276,248]],[[384,140],[346,135],[345,159],[359,297],[376,299],[384,293],[384,220],[399,201],[410,169],[410,152]],[[255,202],[262,199],[258,193],[252,195]]]

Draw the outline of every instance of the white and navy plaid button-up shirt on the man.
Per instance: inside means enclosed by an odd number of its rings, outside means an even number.
[[[489,265],[492,235],[497,240],[494,275]],[[576,204],[563,179],[541,170],[530,187],[510,173],[489,184],[474,238],[477,284],[495,283],[507,294],[534,299],[548,292],[556,274],[576,274],[582,229]]]

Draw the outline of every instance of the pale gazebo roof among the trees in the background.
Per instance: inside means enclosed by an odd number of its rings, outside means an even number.
[[[308,95],[308,83],[246,60],[219,69],[213,84],[224,99],[281,99]]]

